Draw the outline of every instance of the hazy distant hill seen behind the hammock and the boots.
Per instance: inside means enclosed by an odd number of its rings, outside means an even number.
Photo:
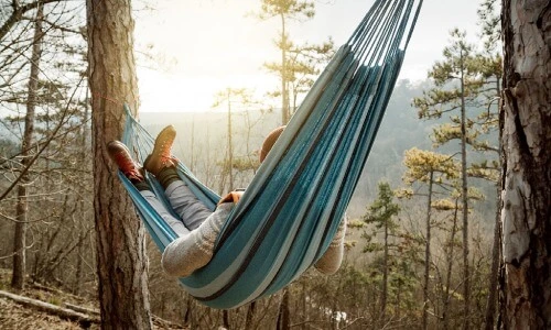
[[[348,209],[350,217],[359,217],[365,213],[366,206],[377,194],[378,182],[388,180],[393,187],[401,184],[402,157],[406,150],[413,146],[430,147],[431,124],[417,119],[417,113],[411,107],[412,99],[420,96],[424,87],[423,85],[411,85],[408,80],[401,80],[397,84],[350,202]],[[279,110],[233,113],[233,145],[236,155],[256,156],[253,152],[260,146],[266,134],[280,124],[280,118]],[[213,175],[216,176],[216,168],[212,168],[212,166],[225,157],[227,146],[226,112],[143,112],[140,113],[140,121],[153,135],[156,135],[168,124],[175,125],[177,138],[174,153],[176,156],[187,164],[193,161],[194,173],[205,184],[216,182],[212,179]],[[251,175],[241,177],[239,183],[246,186]],[[218,187],[214,188],[218,189]]]

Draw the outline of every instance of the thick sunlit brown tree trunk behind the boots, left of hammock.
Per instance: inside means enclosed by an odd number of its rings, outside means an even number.
[[[88,0],[94,209],[102,329],[151,329],[144,231],[106,144],[122,135],[122,102],[138,108],[130,1]]]

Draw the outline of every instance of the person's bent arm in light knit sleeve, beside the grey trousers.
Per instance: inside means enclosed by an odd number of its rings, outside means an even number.
[[[217,207],[196,230],[181,237],[164,249],[162,266],[171,276],[185,277],[210,261],[214,244],[234,204],[225,202]]]

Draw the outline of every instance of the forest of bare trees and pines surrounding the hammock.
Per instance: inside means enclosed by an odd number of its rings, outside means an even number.
[[[210,109],[159,113],[139,112],[134,66],[161,59],[132,37],[133,7],[154,4],[0,0],[0,328],[551,327],[551,10],[478,2],[479,43],[457,26],[425,80],[393,86],[346,209],[338,272],[310,268],[269,297],[214,309],[164,274],[105,145],[128,103],[153,136],[175,127],[174,155],[213,191],[247,188],[264,136],[292,120],[339,46],[285,30],[314,20],[316,1],[258,1],[258,20],[281,22],[281,61],[264,64],[272,90],[229,86]],[[17,319],[8,301],[69,322]]]

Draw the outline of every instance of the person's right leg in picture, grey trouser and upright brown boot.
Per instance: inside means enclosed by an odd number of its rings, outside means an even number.
[[[159,133],[151,155],[144,162],[144,168],[153,174],[165,190],[165,195],[190,230],[194,230],[210,216],[212,211],[190,190],[176,172],[176,160],[171,155],[176,132],[168,127]]]

